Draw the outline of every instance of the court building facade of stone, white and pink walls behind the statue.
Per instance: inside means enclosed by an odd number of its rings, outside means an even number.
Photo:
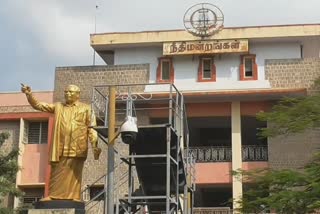
[[[196,158],[196,210],[236,208],[232,199],[241,197],[250,184],[235,177],[233,170],[298,168],[319,146],[319,131],[259,139],[259,128],[269,124],[255,118],[282,97],[312,93],[313,82],[320,76],[319,24],[224,28],[208,38],[184,30],[93,34],[90,44],[106,65],[57,67],[53,102],[63,100],[63,89],[71,83],[80,86],[81,99],[87,103],[97,85],[173,83],[184,94],[189,152]],[[166,93],[168,88],[151,85],[144,92]],[[52,117],[13,105],[1,106],[0,119],[12,129],[15,145],[24,150],[17,185],[43,188],[47,144],[25,143],[26,124],[48,121],[49,141]],[[166,116],[146,111],[138,121],[152,124]],[[105,153],[99,161],[90,154],[84,189],[106,172]],[[30,165],[24,158],[37,164]],[[103,182],[94,187],[101,189]],[[90,191],[87,195],[93,196]]]

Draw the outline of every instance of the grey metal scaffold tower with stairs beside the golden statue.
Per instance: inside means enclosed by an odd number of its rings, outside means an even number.
[[[114,98],[110,95],[112,88]],[[115,115],[110,115],[112,99]],[[115,149],[117,159],[108,151],[105,213],[192,213],[194,160],[188,152],[186,109],[178,89],[173,84],[95,86],[92,110],[97,118],[93,128],[109,149]],[[138,133],[127,152],[121,153],[117,152],[117,145],[110,147],[114,141],[110,139],[110,118],[117,117],[115,126],[119,131],[128,115],[138,118]],[[126,172],[114,167],[114,161],[125,163]],[[117,173],[127,179],[114,178]],[[127,184],[126,188],[123,184]]]

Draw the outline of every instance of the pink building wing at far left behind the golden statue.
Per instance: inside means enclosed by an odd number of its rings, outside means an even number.
[[[35,96],[50,103],[53,92],[35,92]],[[3,206],[28,207],[45,195],[53,116],[33,110],[22,93],[0,93],[0,100],[0,132],[10,134],[1,150],[19,148],[16,186],[25,192],[22,201],[8,196]]]

